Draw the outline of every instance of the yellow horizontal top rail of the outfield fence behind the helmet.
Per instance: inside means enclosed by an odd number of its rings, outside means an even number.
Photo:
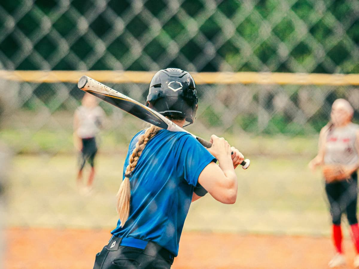
[[[77,83],[87,75],[100,82],[149,83],[155,71],[20,71],[0,70],[0,79]],[[271,72],[191,72],[196,84],[359,85],[359,74],[307,74]]]

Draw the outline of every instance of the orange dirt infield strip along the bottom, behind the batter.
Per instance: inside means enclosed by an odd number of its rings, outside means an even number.
[[[6,269],[87,269],[109,240],[104,230],[10,228],[5,231]],[[344,241],[349,266],[354,250]],[[327,237],[184,232],[172,268],[327,268]]]

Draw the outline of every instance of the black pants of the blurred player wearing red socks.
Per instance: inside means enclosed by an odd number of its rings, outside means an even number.
[[[330,204],[332,222],[340,225],[342,213],[346,213],[349,225],[358,223],[356,203],[358,198],[358,175],[353,173],[349,180],[325,184],[325,191]]]

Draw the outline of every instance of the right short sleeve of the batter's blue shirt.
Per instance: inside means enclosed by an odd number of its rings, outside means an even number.
[[[185,135],[178,141],[177,169],[188,184],[196,186],[202,170],[216,158],[191,135]]]

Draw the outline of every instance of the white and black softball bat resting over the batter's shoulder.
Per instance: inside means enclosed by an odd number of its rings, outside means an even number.
[[[192,133],[186,131],[185,129],[178,126],[176,123],[172,122],[170,119],[164,117],[157,111],[146,107],[144,104],[137,102],[130,97],[115,91],[114,89],[109,88],[106,85],[88,77],[82,76],[78,82],[79,89],[84,90],[104,101],[115,105],[116,107],[124,110],[127,113],[134,115],[135,117],[151,123],[160,128],[166,129],[172,132],[186,132],[191,136],[195,137],[203,146],[210,148],[212,146],[211,142],[204,140],[201,137],[192,135]],[[247,169],[250,165],[250,160],[246,159],[242,163],[242,168]]]

